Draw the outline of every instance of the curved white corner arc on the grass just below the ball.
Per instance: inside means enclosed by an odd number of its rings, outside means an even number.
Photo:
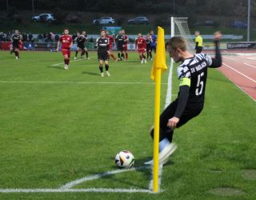
[[[95,175],[91,175],[91,176],[86,176],[84,178],[77,179],[73,182],[68,182],[64,186],[61,186],[59,189],[60,190],[66,190],[66,189],[70,189],[74,186],[77,186],[77,185],[81,184],[82,182],[92,181],[92,180],[95,180],[95,179],[98,179],[98,178],[102,178],[104,176],[109,176],[109,175],[112,175],[112,174],[120,174],[120,173],[124,173],[124,172],[127,172],[127,171],[143,170],[143,169],[147,169],[147,168],[150,168],[150,167],[149,166],[139,166],[139,167],[134,167],[132,169],[127,169],[127,170],[113,170],[113,171],[104,172],[102,174],[95,174]]]

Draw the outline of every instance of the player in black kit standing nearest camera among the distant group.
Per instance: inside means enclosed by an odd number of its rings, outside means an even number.
[[[106,75],[110,76],[109,73],[109,59],[110,59],[110,41],[106,38],[106,30],[101,30],[101,37],[97,39],[96,46],[98,47],[98,62],[101,76],[104,77],[103,73],[103,61],[105,62]]]

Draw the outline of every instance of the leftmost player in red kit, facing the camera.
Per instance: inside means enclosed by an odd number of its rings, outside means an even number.
[[[68,70],[70,64],[70,48],[73,46],[73,39],[68,29],[65,29],[64,34],[59,38],[56,51],[58,51],[60,43],[62,43],[62,54],[64,56],[64,70]]]

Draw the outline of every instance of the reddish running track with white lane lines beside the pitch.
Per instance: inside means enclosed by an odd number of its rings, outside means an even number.
[[[224,55],[218,69],[256,101],[256,54]]]

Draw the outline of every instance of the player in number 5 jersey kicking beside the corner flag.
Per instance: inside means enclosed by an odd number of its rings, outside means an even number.
[[[159,165],[164,165],[177,146],[172,142],[174,129],[179,128],[202,112],[205,101],[206,78],[208,68],[222,66],[222,55],[218,42],[220,32],[214,34],[215,58],[208,54],[191,54],[187,50],[185,38],[173,37],[167,43],[167,50],[178,66],[178,98],[162,112],[160,116]],[[150,131],[154,136],[154,129]],[[153,165],[153,161],[145,164]]]

